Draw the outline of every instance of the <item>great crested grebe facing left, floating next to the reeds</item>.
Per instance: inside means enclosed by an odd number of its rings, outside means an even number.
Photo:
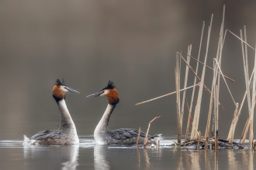
[[[112,114],[112,111],[115,109],[116,104],[119,103],[119,94],[114,86],[114,83],[109,80],[109,83],[102,90],[99,90],[97,93],[92,93],[87,97],[99,97],[106,96],[109,100],[108,107],[102,116],[102,119],[99,121],[99,124],[95,128],[94,138],[97,144],[99,145],[135,145],[137,143],[137,137],[139,131],[137,129],[130,128],[121,128],[115,131],[109,131],[109,119]],[[143,131],[140,131],[140,141],[139,144],[144,143],[144,138],[146,134]],[[156,144],[160,134],[154,136],[148,135],[147,144]]]

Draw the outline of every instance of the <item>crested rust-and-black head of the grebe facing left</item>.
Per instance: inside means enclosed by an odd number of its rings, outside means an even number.
[[[119,93],[116,90],[116,87],[111,80],[109,80],[108,85],[104,87],[102,90],[99,90],[99,92],[96,92],[96,93],[92,93],[87,97],[101,97],[101,96],[106,96],[109,100],[109,104],[116,105],[119,103]]]

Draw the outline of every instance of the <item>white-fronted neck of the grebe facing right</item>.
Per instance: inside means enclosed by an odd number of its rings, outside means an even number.
[[[59,129],[77,135],[77,130],[74,126],[74,122],[71,118],[71,115],[69,114],[69,111],[67,110],[67,105],[66,105],[65,100],[63,99],[63,100],[57,101],[57,106],[59,107],[59,110],[61,111],[61,126]]]

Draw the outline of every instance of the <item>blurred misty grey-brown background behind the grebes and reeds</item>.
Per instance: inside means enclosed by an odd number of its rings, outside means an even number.
[[[91,135],[106,109],[103,97],[86,98],[114,81],[120,102],[109,129],[139,128],[150,134],[176,135],[175,95],[135,106],[136,103],[175,91],[175,53],[198,55],[202,22],[206,21],[201,60],[206,52],[206,30],[213,13],[207,64],[213,66],[223,4],[224,29],[239,35],[247,26],[247,41],[255,44],[255,1],[0,1],[0,139],[22,140],[45,129],[59,127],[59,110],[51,90],[57,78],[80,94],[68,93],[66,102],[78,135]],[[249,70],[254,51],[248,48]],[[195,62],[191,61],[192,66]],[[185,72],[185,65],[182,65]],[[240,41],[227,33],[223,73],[236,102],[244,96],[244,69]],[[202,66],[199,68],[201,75]],[[206,70],[211,87],[212,71]],[[189,72],[191,86],[194,76]],[[184,76],[182,76],[184,77]],[[182,86],[183,86],[182,79]],[[187,97],[190,102],[191,90]],[[227,138],[234,104],[221,80],[220,137]],[[196,98],[195,98],[196,103]],[[199,130],[205,133],[209,93],[203,91]],[[194,110],[194,108],[193,108]],[[184,125],[188,111],[185,109]],[[237,124],[240,138],[248,117],[247,103]],[[183,126],[183,132],[185,126]]]

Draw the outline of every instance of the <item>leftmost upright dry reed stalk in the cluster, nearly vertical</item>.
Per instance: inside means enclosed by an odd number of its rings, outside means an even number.
[[[180,80],[178,72],[178,53],[176,54],[176,67],[175,67],[175,87],[176,87],[176,106],[177,106],[177,134],[178,134],[178,144],[182,142],[182,128],[181,128],[181,100],[180,100]]]

